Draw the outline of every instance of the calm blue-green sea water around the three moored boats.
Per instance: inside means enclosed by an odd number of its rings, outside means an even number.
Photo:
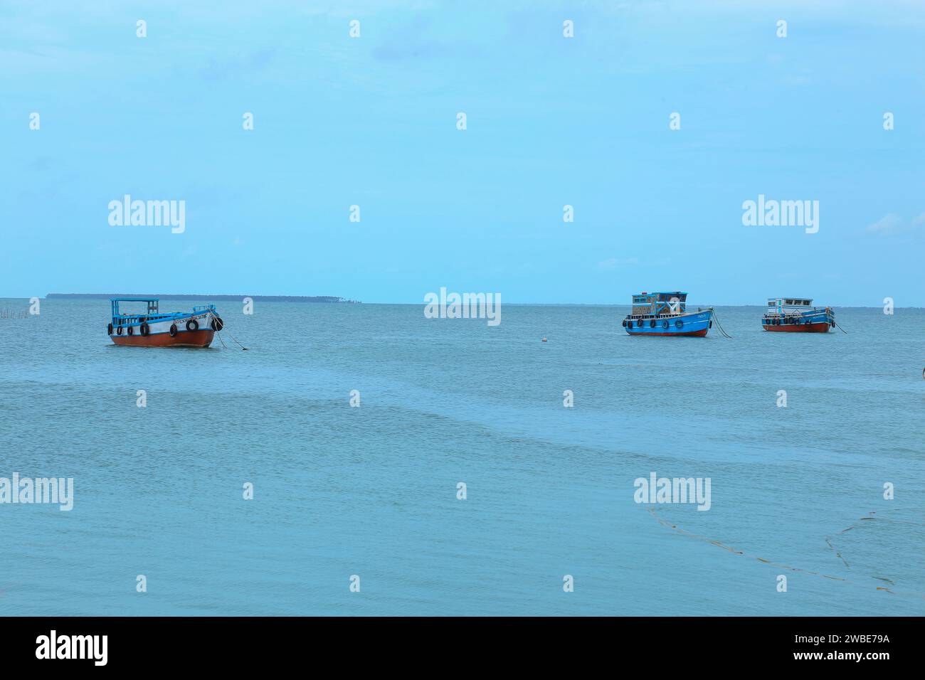
[[[700,340],[623,307],[218,308],[250,351],[116,347],[107,301],[0,319],[0,476],[75,485],[0,505],[0,613],[925,613],[923,310],[721,307],[734,340]],[[709,512],[635,503],[651,472],[709,477]]]

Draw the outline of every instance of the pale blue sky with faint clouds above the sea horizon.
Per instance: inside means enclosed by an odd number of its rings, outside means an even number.
[[[925,306],[921,3],[81,5],[0,5],[0,296]]]

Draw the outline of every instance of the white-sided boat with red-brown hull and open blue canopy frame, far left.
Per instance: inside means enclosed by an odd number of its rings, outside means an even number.
[[[216,331],[224,328],[214,304],[196,305],[191,312],[158,309],[156,298],[116,298],[112,303],[112,322],[106,328],[117,345],[136,347],[208,347]],[[119,303],[145,303],[144,314],[121,314]]]

